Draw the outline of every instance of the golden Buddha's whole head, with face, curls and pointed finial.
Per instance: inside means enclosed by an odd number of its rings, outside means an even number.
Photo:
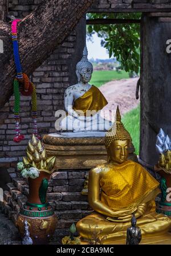
[[[105,147],[108,161],[115,164],[122,164],[127,161],[129,151],[133,147],[131,135],[121,122],[119,107],[116,110],[115,123],[105,135]]]

